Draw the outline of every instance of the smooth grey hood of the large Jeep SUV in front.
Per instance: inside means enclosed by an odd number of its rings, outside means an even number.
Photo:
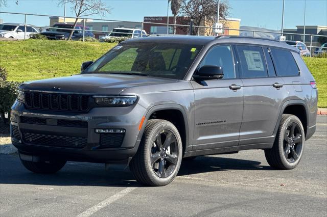
[[[79,74],[70,77],[25,82],[19,86],[19,89],[44,92],[119,95],[126,88],[175,82],[177,82],[175,79],[138,75]]]

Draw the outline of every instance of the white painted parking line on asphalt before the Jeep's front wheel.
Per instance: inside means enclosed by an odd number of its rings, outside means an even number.
[[[91,208],[85,210],[84,212],[82,212],[81,214],[77,215],[78,217],[87,217],[90,216],[92,214],[94,214],[95,212],[99,211],[100,209],[108,206],[109,204],[115,202],[116,200],[124,197],[125,195],[127,195],[128,193],[134,191],[136,187],[127,187],[125,188],[123,191],[105,199],[104,201],[101,201],[100,203],[98,203],[95,206],[92,206]]]

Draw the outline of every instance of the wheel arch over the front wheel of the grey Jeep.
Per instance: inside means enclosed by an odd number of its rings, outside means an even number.
[[[168,116],[168,114],[170,116]],[[155,116],[154,116],[155,115]],[[186,112],[184,108],[179,104],[162,104],[162,105],[155,105],[151,107],[146,116],[143,123],[143,126],[138,134],[137,140],[141,140],[145,126],[147,125],[147,122],[151,119],[164,119],[167,121],[172,122],[182,139],[182,146],[183,146],[183,153],[185,150],[188,149],[188,144],[190,142],[189,139],[189,124],[188,124],[188,117],[186,115]]]

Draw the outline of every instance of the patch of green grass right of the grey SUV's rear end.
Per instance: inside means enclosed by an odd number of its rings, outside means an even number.
[[[316,80],[318,107],[327,107],[327,58],[303,58]]]

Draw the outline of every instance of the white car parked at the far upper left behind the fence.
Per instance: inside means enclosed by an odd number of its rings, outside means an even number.
[[[31,34],[38,33],[33,26],[26,25],[26,38],[30,38]],[[0,24],[0,37],[2,38],[25,38],[25,25],[20,23],[2,23]]]

